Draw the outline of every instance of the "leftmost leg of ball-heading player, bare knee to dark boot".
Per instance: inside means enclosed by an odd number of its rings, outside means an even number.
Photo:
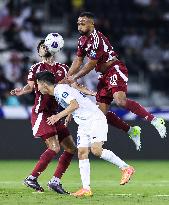
[[[58,136],[49,137],[45,140],[48,149],[40,156],[38,163],[36,164],[31,175],[24,180],[24,184],[36,191],[43,192],[44,189],[39,185],[37,179],[39,175],[47,168],[51,160],[60,151],[60,145]]]

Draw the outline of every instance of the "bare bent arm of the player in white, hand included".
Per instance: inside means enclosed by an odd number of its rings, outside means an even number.
[[[72,114],[78,108],[79,108],[78,102],[75,99],[71,100],[69,106],[65,110],[63,110],[62,112],[59,112],[57,115],[52,115],[51,117],[48,117],[47,123],[49,125],[53,125],[57,121],[59,121],[61,118]]]

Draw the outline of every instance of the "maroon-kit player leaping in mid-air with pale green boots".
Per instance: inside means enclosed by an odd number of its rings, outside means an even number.
[[[108,112],[109,106],[114,100],[118,106],[149,121],[157,129],[161,138],[166,137],[164,120],[156,118],[138,102],[126,97],[128,70],[117,58],[108,38],[95,29],[93,14],[90,12],[81,13],[77,25],[81,37],[78,40],[76,57],[68,72],[68,81],[76,81],[95,68],[96,72],[102,74],[97,86],[96,101],[106,115],[109,124],[126,132],[131,130],[127,123],[120,120],[114,113]],[[80,69],[85,56],[87,56],[88,62]],[[133,133],[136,136],[140,134],[138,127]],[[140,138],[137,136],[136,138],[132,137],[132,139],[139,149]]]

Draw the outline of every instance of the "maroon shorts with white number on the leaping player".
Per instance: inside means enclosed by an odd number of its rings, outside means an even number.
[[[114,62],[107,72],[99,78],[96,101],[110,105],[113,94],[118,91],[127,92],[128,70],[121,61]]]

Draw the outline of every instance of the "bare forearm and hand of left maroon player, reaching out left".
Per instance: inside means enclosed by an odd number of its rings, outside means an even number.
[[[28,84],[26,84],[23,88],[15,88],[14,90],[11,90],[11,95],[25,95],[28,93],[31,93],[33,91],[34,81],[28,81]]]

